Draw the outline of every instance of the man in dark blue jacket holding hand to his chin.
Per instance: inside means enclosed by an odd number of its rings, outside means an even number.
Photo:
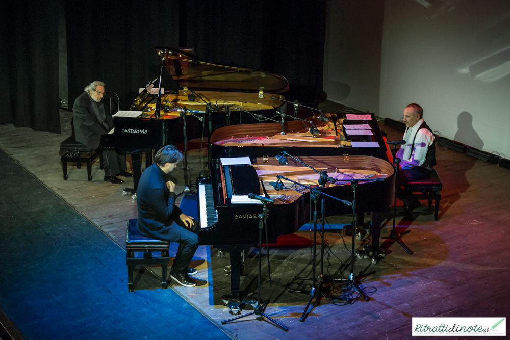
[[[146,237],[179,243],[170,277],[184,287],[194,287],[196,283],[189,275],[198,271],[189,264],[198,248],[198,222],[174,205],[175,184],[166,180],[166,174],[182,159],[181,151],[167,145],[156,153],[154,164],[142,173],[136,196],[136,228]]]

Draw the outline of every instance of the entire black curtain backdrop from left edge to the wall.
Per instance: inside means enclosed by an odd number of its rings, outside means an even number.
[[[7,74],[0,123],[60,132],[56,13],[63,9],[58,0],[38,3],[1,11],[11,29],[0,35],[8,46],[0,48]],[[70,108],[94,80],[120,96],[121,109],[129,106],[159,76],[154,45],[195,47],[205,61],[282,74],[289,100],[312,102],[322,92],[324,0],[64,3]]]

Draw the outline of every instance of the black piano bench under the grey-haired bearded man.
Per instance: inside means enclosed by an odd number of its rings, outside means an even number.
[[[78,143],[71,135],[65,141],[60,143],[60,151],[65,151],[64,155],[60,158],[62,161],[62,172],[64,173],[64,180],[67,180],[67,162],[76,163],[78,169],[81,168],[82,163],[87,163],[87,174],[89,182],[92,180],[92,163],[99,157],[99,168],[103,167],[103,152],[101,150],[91,150],[82,143]]]

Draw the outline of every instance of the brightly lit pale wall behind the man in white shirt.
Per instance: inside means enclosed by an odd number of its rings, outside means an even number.
[[[510,1],[387,0],[379,116],[510,158]]]

